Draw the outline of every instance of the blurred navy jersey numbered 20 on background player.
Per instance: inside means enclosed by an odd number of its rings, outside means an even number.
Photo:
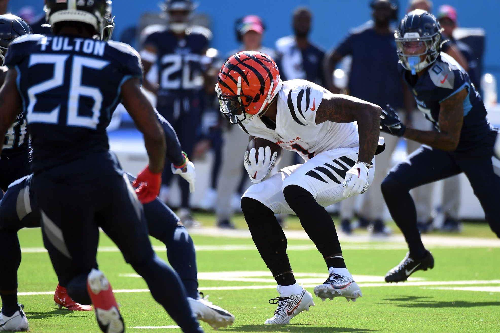
[[[152,46],[157,52],[159,98],[183,97],[202,88],[210,30],[193,26],[186,30],[184,38],[178,39],[167,27],[150,26],[144,34],[143,45]]]

